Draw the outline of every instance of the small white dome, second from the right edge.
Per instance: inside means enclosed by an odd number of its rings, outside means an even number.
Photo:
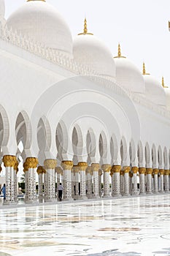
[[[152,75],[144,75],[144,83],[146,89],[146,98],[155,105],[166,106],[166,93],[158,80]]]

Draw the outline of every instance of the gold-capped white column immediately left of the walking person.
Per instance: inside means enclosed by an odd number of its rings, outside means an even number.
[[[44,167],[45,173],[45,201],[55,200],[55,167],[57,165],[57,160],[55,159],[45,159]]]

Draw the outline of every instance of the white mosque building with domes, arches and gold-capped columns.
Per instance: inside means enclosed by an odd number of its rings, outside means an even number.
[[[7,20],[0,0],[0,148],[6,201],[26,203],[169,192],[170,89],[84,29],[74,39],[45,0]],[[110,184],[111,193],[110,193]]]

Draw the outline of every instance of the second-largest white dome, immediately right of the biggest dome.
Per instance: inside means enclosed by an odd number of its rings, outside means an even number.
[[[108,48],[93,34],[80,34],[73,42],[75,61],[98,72],[115,78],[115,61]]]

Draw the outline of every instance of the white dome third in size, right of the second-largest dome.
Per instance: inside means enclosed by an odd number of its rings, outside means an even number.
[[[144,78],[139,69],[126,58],[115,58],[116,81],[125,89],[139,94],[145,93]]]

